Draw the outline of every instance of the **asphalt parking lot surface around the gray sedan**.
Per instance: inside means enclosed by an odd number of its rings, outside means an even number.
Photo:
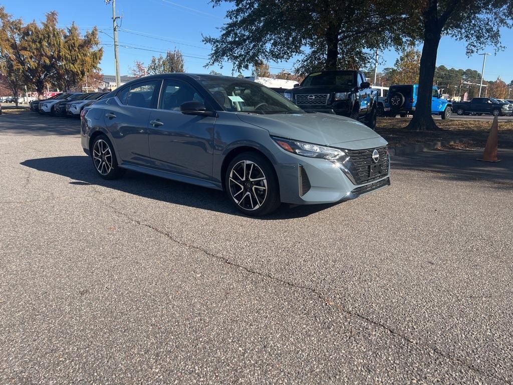
[[[73,119],[2,115],[0,154],[0,383],[513,381],[511,150],[262,219],[98,178]]]

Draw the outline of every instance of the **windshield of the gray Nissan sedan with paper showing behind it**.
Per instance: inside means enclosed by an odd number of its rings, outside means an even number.
[[[273,90],[247,80],[206,78],[199,82],[225,111],[247,113],[301,113],[303,110]]]

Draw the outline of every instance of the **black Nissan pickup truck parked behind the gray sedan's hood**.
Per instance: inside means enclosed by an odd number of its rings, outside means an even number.
[[[362,71],[319,71],[284,92],[285,98],[307,112],[344,115],[376,128],[378,91]]]

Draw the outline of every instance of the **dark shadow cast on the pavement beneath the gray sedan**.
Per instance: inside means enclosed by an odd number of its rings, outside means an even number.
[[[21,163],[38,171],[51,172],[72,179],[69,184],[77,186],[98,185],[126,192],[144,198],[183,206],[218,211],[236,216],[244,216],[228,201],[225,192],[206,187],[175,182],[127,170],[123,178],[104,180],[94,172],[88,156],[68,156],[55,158],[29,159]],[[281,207],[269,216],[255,217],[262,220],[293,219],[318,213],[334,204],[302,205]]]

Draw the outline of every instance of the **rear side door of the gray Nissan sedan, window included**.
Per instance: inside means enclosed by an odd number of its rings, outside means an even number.
[[[153,79],[132,84],[105,105],[105,125],[123,162],[151,165],[148,120],[161,83],[161,79]]]

